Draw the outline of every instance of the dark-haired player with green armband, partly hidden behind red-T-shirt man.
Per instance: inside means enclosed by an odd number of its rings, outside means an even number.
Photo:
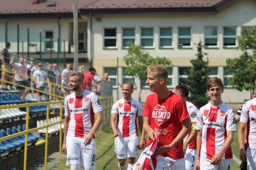
[[[187,135],[183,139],[183,151],[185,154],[185,165],[186,170],[194,170],[194,165],[197,156],[197,107],[187,101],[189,95],[189,89],[187,86],[184,85],[177,85],[175,87],[174,93],[177,94],[179,97],[185,100],[187,105],[187,112],[190,117],[190,121],[192,124],[192,130],[190,131],[189,135]],[[188,147],[188,148],[187,148]]]

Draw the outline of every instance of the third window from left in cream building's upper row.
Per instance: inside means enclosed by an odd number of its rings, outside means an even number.
[[[154,30],[153,28],[141,28],[141,47],[154,47]]]

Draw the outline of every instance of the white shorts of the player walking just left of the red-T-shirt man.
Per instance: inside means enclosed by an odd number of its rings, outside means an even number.
[[[138,136],[115,138],[115,153],[119,160],[138,157]]]

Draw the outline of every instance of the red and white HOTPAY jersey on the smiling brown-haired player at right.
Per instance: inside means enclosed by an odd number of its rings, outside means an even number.
[[[222,102],[213,107],[210,103],[198,110],[197,129],[202,130],[201,158],[212,159],[227,140],[227,131],[236,131],[234,111]],[[231,146],[222,159],[233,158]]]

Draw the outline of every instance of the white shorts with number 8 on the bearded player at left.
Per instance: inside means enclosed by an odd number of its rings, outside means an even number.
[[[67,136],[67,164],[80,164],[84,168],[95,169],[96,144],[95,139],[90,145],[83,144],[84,138]]]

